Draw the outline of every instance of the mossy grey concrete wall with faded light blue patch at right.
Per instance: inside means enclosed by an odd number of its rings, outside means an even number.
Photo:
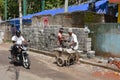
[[[96,53],[110,53],[120,56],[120,24],[89,24],[92,32],[92,48]]]

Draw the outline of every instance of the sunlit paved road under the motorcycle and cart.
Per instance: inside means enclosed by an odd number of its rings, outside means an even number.
[[[0,80],[120,80],[120,74],[87,64],[58,67],[54,58],[28,52],[30,69],[9,63],[9,45],[0,44]]]

